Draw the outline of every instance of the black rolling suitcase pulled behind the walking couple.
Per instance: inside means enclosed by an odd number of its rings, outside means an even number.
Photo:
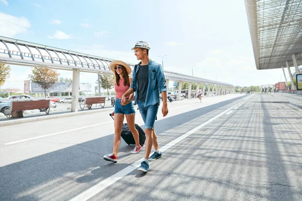
[[[109,115],[113,119],[111,113]],[[146,135],[145,135],[144,131],[142,130],[142,128],[140,128],[140,126],[138,126],[137,124],[135,124],[135,128],[138,131],[139,144],[140,144],[140,146],[143,146],[144,142],[146,140]],[[123,138],[123,140],[128,145],[130,145],[130,144],[134,144],[135,145],[135,140],[133,138],[133,135],[132,135],[131,131],[129,130],[129,127],[128,127],[127,123],[123,124],[121,137]]]

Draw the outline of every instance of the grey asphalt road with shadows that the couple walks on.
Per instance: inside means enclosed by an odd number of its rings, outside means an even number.
[[[156,121],[163,157],[146,174],[144,149],[131,155],[123,141],[118,163],[102,159],[108,112],[1,127],[0,200],[302,200],[302,110],[268,97],[172,102]]]

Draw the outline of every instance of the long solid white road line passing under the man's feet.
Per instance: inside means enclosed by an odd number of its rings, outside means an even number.
[[[231,111],[232,109],[234,109],[236,106],[237,105],[232,106],[231,108],[223,111],[219,115],[216,115],[215,117],[209,119],[208,121],[204,122],[203,124],[201,124],[201,125],[197,126],[196,128],[190,130],[186,134],[184,134],[184,135],[176,138],[172,142],[170,142],[170,143],[166,144],[164,147],[162,147],[161,151],[164,152],[164,151],[168,150],[169,148],[171,148],[172,146],[174,146],[178,142],[182,141],[186,137],[188,137],[191,134],[195,133],[196,131],[198,131],[199,129],[201,129],[204,126],[208,125],[209,123],[211,123],[212,121],[216,120],[217,118],[221,117],[225,113],[228,113],[229,111]],[[107,188],[108,186],[112,185],[114,182],[118,181],[119,179],[123,178],[124,176],[126,176],[127,174],[129,174],[130,172],[132,172],[133,170],[135,170],[136,168],[138,168],[141,161],[142,161],[142,159],[136,161],[135,163],[129,165],[128,167],[122,169],[121,171],[115,173],[114,175],[108,177],[107,179],[104,179],[103,181],[99,182],[98,184],[94,185],[93,187],[87,189],[86,191],[84,191],[81,194],[73,197],[70,200],[71,201],[78,201],[78,200],[82,201],[82,200],[88,200],[88,199],[90,199],[91,197],[95,196],[96,194],[98,194],[99,192],[101,192],[102,190],[104,190],[105,188]]]

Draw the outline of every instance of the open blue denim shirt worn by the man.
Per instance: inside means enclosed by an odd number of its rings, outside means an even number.
[[[132,83],[131,83],[131,88],[134,89],[135,91],[135,101],[134,101],[134,105],[137,104],[138,102],[138,91],[137,91],[137,79],[135,79],[135,75],[139,69],[139,65],[141,64],[141,62],[138,63],[138,66],[136,67],[136,72],[134,72],[133,69],[133,79],[132,79]],[[165,79],[165,75],[164,75],[164,71],[162,68],[162,65],[152,61],[150,59],[150,61],[148,62],[148,66],[149,66],[149,78],[148,78],[148,88],[147,88],[147,94],[146,94],[146,99],[145,99],[145,103],[144,103],[144,107],[149,107],[149,106],[153,106],[157,103],[160,103],[160,92],[163,91],[167,91],[167,86],[166,86],[166,79]]]

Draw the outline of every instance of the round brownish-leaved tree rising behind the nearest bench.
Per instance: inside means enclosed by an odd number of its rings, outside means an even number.
[[[46,97],[46,89],[49,89],[55,82],[58,81],[60,74],[56,70],[44,67],[33,67],[32,74],[28,77],[36,84],[39,84],[43,89]]]

